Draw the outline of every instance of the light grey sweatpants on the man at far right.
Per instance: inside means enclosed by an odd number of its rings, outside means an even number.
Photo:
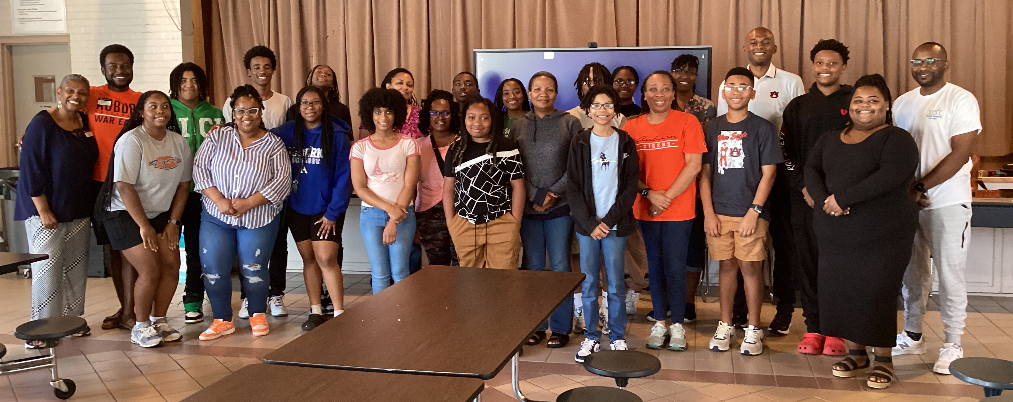
[[[908,271],[904,274],[904,329],[922,332],[932,275],[939,277],[939,312],[947,342],[960,343],[967,318],[967,245],[970,240],[970,203],[923,209]],[[931,260],[930,260],[931,259]]]

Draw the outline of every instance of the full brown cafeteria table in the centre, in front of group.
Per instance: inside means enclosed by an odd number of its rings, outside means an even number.
[[[516,380],[521,346],[582,281],[580,273],[426,267],[263,361],[488,380],[513,357]]]

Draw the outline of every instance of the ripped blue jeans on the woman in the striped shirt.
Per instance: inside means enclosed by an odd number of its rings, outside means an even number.
[[[250,315],[267,311],[267,262],[278,237],[279,219],[249,229],[201,212],[201,266],[204,288],[215,318],[232,321],[232,259],[239,255],[239,278]]]

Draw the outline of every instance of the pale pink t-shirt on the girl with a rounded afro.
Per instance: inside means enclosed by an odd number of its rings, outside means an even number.
[[[408,158],[418,155],[418,145],[410,136],[401,134],[397,143],[388,148],[380,148],[369,136],[352,145],[348,159],[360,160],[366,170],[367,185],[384,201],[397,203],[397,196],[404,188],[404,170]],[[363,201],[363,206],[372,207]]]

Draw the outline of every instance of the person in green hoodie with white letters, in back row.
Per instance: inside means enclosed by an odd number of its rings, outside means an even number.
[[[189,143],[190,152],[196,155],[211,127],[225,122],[222,109],[207,101],[208,77],[204,69],[192,63],[182,63],[172,69],[169,74],[169,97],[172,98],[172,111],[182,131],[180,134]],[[196,250],[200,243],[201,210],[201,193],[194,192],[193,184],[190,183],[186,208],[180,219],[185,228],[183,242],[186,249],[186,286],[183,291],[183,309],[186,313],[183,319],[187,324],[204,321],[204,313],[201,311],[204,304],[201,255],[190,253],[189,247],[193,245]]]

